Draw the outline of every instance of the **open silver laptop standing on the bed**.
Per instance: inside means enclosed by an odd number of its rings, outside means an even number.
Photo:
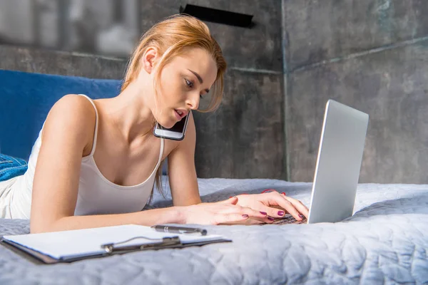
[[[366,113],[327,101],[309,217],[298,222],[286,214],[274,224],[340,222],[352,216],[368,123]]]

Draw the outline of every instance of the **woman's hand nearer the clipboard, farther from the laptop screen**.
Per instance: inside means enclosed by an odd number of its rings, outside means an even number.
[[[248,219],[264,219],[265,213],[236,205],[237,197],[214,203],[184,207],[185,224],[246,224]]]

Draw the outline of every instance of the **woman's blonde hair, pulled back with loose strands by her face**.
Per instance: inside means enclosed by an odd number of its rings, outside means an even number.
[[[207,25],[195,17],[185,14],[173,15],[155,24],[143,34],[141,41],[131,56],[122,91],[138,77],[138,73],[141,71],[143,54],[151,46],[156,47],[158,53],[161,54],[160,61],[156,63],[158,68],[155,74],[155,92],[159,87],[158,82],[160,81],[163,67],[172,61],[175,56],[183,55],[190,48],[202,48],[207,51],[217,64],[217,77],[213,88],[210,90],[211,100],[208,109],[199,111],[205,113],[219,107],[223,98],[223,76],[227,63],[220,46],[211,36]],[[156,185],[163,195],[161,185],[162,168],[161,165],[156,173]]]

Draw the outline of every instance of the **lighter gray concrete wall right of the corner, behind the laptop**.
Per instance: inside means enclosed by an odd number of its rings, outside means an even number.
[[[290,180],[312,180],[333,98],[370,114],[360,182],[428,182],[427,14],[417,0],[282,0]]]

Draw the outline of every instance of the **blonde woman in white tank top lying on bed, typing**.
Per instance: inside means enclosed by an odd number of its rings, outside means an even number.
[[[156,24],[133,53],[116,98],[71,94],[55,103],[28,170],[0,182],[0,217],[30,219],[32,233],[117,224],[270,223],[285,212],[301,220],[307,208],[277,192],[201,203],[190,111],[208,92],[209,110],[218,107],[225,68],[203,22],[175,15]],[[184,140],[153,135],[156,122],[171,128],[185,115]],[[173,207],[141,211],[166,157]]]

